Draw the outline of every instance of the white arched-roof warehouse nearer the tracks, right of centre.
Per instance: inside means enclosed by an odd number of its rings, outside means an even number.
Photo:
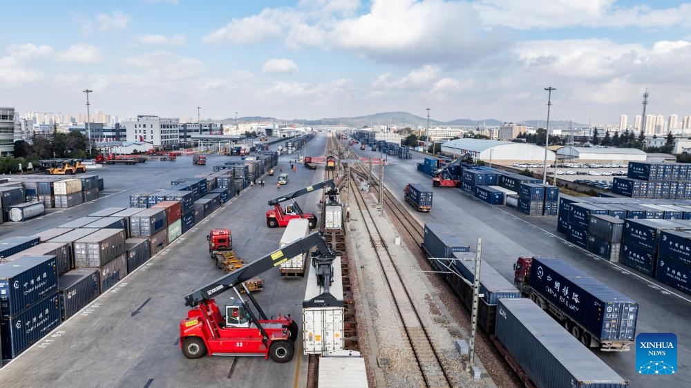
[[[484,162],[543,162],[545,148],[534,144],[498,142],[485,139],[455,139],[442,144],[442,153],[462,156],[470,153],[474,159]],[[547,160],[554,161],[556,154],[547,151]]]

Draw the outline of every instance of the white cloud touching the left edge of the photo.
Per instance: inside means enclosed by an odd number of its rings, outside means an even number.
[[[27,43],[9,46],[6,51],[7,55],[0,57],[0,84],[15,86],[43,77],[43,72],[28,68],[26,64],[36,58],[48,57],[53,48]]]

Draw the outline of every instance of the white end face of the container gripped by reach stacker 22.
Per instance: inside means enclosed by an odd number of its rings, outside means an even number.
[[[343,307],[303,309],[305,354],[343,350]]]

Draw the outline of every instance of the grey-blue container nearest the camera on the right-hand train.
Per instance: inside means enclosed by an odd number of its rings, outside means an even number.
[[[529,299],[499,300],[496,336],[537,387],[628,386]]]

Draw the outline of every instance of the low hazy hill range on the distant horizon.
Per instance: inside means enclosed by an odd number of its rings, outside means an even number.
[[[218,122],[220,124],[236,124],[238,122],[256,122],[257,117],[238,117],[227,118],[221,120],[211,120],[212,122]],[[374,113],[372,115],[357,116],[357,117],[331,117],[323,119],[276,119],[274,117],[259,117],[260,122],[276,122],[281,124],[299,124],[304,126],[318,126],[318,125],[332,125],[332,126],[352,126],[355,128],[362,128],[363,126],[376,126],[376,125],[389,125],[392,126],[426,126],[427,117],[420,117],[407,112],[383,112]],[[544,127],[545,120],[524,120],[520,121],[520,124],[533,127]],[[430,126],[499,126],[502,122],[498,119],[455,119],[450,122],[440,122],[430,118]],[[585,126],[585,124],[578,124],[574,122],[571,124],[574,128]],[[569,122],[567,121],[550,121],[550,128],[569,128]]]

